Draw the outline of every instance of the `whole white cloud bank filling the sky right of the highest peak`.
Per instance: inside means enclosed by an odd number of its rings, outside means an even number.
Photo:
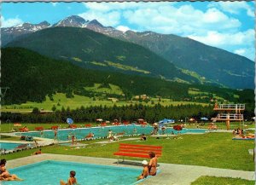
[[[246,2],[214,2],[207,10],[196,9],[193,3],[84,3],[87,11],[79,14],[85,20],[99,20],[103,26],[114,26],[125,32],[129,27],[138,32],[153,31],[193,38],[230,52],[250,55],[254,31],[241,32],[242,24],[232,14],[254,16],[253,6]],[[227,14],[230,13],[230,14]],[[253,21],[253,20],[249,20]],[[240,49],[240,50],[239,50]]]

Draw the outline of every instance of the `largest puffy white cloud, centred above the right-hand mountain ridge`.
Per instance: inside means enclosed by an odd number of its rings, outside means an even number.
[[[123,16],[130,24],[140,26],[142,31],[153,29],[154,32],[179,35],[194,32],[205,34],[212,29],[236,31],[241,26],[239,20],[228,17],[218,9],[212,8],[203,12],[191,5],[183,5],[179,8],[165,5],[154,9],[129,9]]]

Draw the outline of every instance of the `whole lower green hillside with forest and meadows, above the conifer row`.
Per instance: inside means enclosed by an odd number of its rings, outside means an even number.
[[[25,109],[31,109],[35,105],[43,106],[37,104],[43,101],[52,101],[49,107],[55,105],[59,106],[59,109],[67,104],[73,108],[80,107],[81,103],[88,106],[113,105],[108,98],[116,98],[119,105],[125,105],[132,101],[136,102],[133,100],[136,95],[148,95],[150,99],[147,99],[149,102],[145,101],[146,105],[158,102],[164,106],[177,104],[173,101],[208,104],[214,103],[212,100],[215,99],[247,103],[252,108],[254,105],[253,90],[229,90],[214,86],[168,82],[159,78],[94,71],[21,48],[2,49],[1,75],[2,87],[9,87],[2,105],[26,103],[22,105]],[[63,98],[64,94],[66,98]],[[66,101],[67,104],[63,104]],[[137,100],[139,101],[142,100]],[[60,105],[56,105],[58,103]]]

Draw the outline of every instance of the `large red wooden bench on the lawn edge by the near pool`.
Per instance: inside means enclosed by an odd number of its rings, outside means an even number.
[[[162,147],[161,146],[153,146],[153,145],[135,145],[135,144],[119,144],[119,151],[113,153],[113,155],[123,156],[124,157],[133,157],[133,158],[150,158],[148,152],[154,152],[155,155],[159,158],[162,155]],[[119,159],[118,159],[119,163]]]

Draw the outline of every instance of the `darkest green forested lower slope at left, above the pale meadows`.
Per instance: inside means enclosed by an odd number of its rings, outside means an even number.
[[[63,92],[67,97],[73,97],[73,94],[89,97],[102,95],[101,92],[85,88],[94,84],[102,84],[106,88],[109,88],[109,84],[116,85],[127,99],[143,94],[178,99],[188,95],[189,88],[184,84],[156,78],[88,70],[27,49],[2,49],[2,87],[10,88],[4,97],[5,104],[40,102],[45,100],[46,95],[51,96],[55,92]],[[114,96],[111,92],[106,94]]]

